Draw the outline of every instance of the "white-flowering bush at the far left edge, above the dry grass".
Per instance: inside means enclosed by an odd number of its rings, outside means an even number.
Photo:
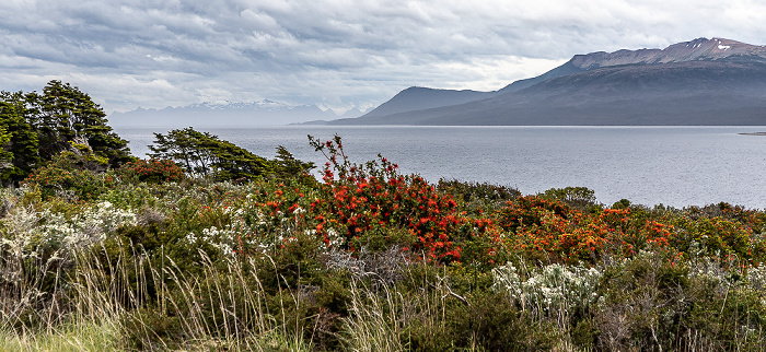
[[[4,195],[3,195],[4,196]],[[67,218],[50,208],[5,202],[0,219],[0,322],[60,317],[57,309],[72,278],[78,251],[103,242],[136,215],[109,202],[83,207]],[[46,310],[49,309],[49,310]],[[50,321],[50,320],[48,320]]]

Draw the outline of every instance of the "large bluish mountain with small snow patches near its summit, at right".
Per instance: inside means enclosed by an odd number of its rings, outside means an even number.
[[[392,98],[381,107],[396,113],[332,122],[766,125],[766,47],[699,38],[665,49],[577,55],[545,74],[486,94],[451,105],[433,101],[420,109]]]

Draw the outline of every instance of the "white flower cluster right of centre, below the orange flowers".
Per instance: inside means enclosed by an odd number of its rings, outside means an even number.
[[[522,308],[545,312],[583,307],[597,300],[603,273],[594,268],[550,265],[533,269],[522,279],[512,263],[492,269],[494,289],[508,292]]]

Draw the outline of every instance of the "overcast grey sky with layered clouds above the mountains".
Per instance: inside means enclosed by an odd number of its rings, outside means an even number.
[[[264,98],[343,112],[697,37],[766,44],[766,2],[0,0],[0,90],[61,80],[107,113]]]

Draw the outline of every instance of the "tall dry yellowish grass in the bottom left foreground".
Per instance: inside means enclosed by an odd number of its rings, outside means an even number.
[[[116,260],[96,251],[45,261],[4,253],[0,350],[311,350],[302,331],[285,325],[288,300],[301,305],[294,291],[280,284],[281,308],[270,312],[257,272],[246,269],[253,262],[231,258],[221,267],[200,257],[202,274],[193,277],[170,258],[155,267],[137,248]],[[59,261],[69,261],[69,270]],[[178,322],[175,336],[158,331],[158,320],[171,318]]]

